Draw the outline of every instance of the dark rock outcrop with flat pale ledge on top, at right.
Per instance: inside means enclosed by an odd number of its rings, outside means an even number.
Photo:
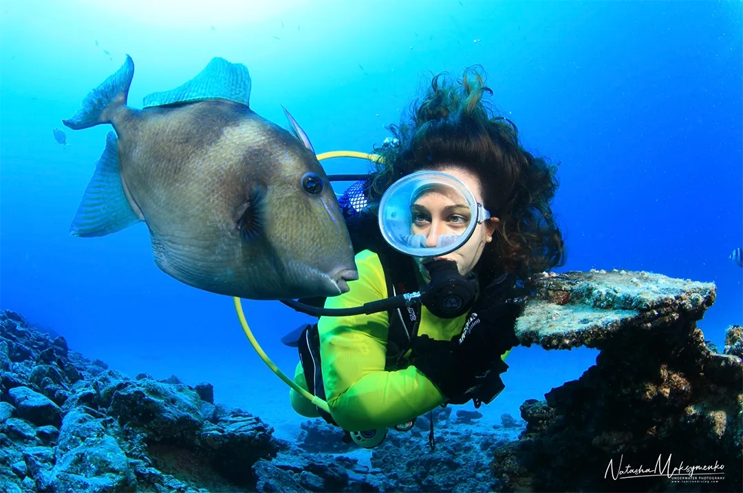
[[[490,464],[499,489],[743,491],[741,329],[729,329],[720,354],[696,325],[716,287],[593,270],[536,283],[517,324],[522,344],[600,354],[546,402],[522,405],[526,430]]]

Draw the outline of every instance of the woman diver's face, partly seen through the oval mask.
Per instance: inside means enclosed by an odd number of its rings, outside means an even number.
[[[477,202],[482,203],[482,187],[479,178],[458,167],[437,167],[436,171],[447,173],[461,180],[472,190]],[[470,210],[467,201],[455,190],[438,188],[429,190],[418,196],[411,205],[412,233],[426,237],[426,246],[436,246],[445,242],[445,235],[459,236],[467,229],[471,221],[475,221],[476,211]],[[426,262],[438,259],[453,260],[457,263],[459,273],[466,275],[472,271],[482,256],[487,243],[493,241],[493,231],[498,224],[498,218],[490,218],[477,225],[467,242],[449,254],[433,259],[416,257],[421,274],[429,280],[428,271],[424,268]]]

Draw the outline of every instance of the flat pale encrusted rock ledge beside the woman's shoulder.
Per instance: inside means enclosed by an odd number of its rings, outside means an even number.
[[[672,279],[648,272],[596,271],[535,277],[536,298],[516,323],[524,346],[545,349],[614,345],[614,337],[637,337],[698,320],[715,301],[712,283]]]

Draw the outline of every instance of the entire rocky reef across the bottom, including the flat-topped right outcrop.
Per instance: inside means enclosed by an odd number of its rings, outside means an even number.
[[[0,491],[743,491],[743,328],[718,353],[696,326],[715,286],[624,271],[536,283],[517,324],[522,344],[597,348],[595,366],[525,402],[526,428],[438,408],[364,451],[367,465],[321,420],[290,444],[215,405],[210,384],[129,378],[0,310]],[[637,478],[640,467],[666,475]],[[687,479],[667,477],[673,468]]]

